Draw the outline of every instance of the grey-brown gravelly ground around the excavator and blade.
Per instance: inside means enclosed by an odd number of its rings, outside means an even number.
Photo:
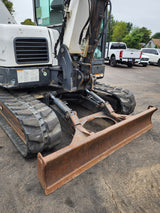
[[[101,81],[131,90],[135,113],[160,106],[160,67],[106,65]],[[0,213],[160,212],[159,118],[157,111],[152,130],[49,196],[36,178],[36,159],[23,159],[0,129]]]

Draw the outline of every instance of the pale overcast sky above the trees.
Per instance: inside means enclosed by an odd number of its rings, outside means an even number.
[[[32,18],[32,0],[11,0],[14,17],[18,23]],[[134,26],[146,27],[152,34],[160,32],[160,0],[111,0],[115,20],[132,22]]]

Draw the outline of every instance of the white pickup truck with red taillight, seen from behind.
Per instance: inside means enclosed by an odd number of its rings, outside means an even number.
[[[140,50],[128,49],[123,42],[106,43],[105,60],[109,61],[112,67],[115,67],[117,63],[132,67],[135,60],[141,58],[141,54]]]

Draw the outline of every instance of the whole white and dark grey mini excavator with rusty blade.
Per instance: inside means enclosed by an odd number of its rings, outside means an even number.
[[[152,128],[134,95],[101,84],[110,0],[33,0],[36,26],[0,24],[0,125],[37,155],[49,194]]]

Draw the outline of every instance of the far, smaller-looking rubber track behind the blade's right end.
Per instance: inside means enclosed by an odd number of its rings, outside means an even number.
[[[112,97],[116,98],[120,104],[117,113],[129,115],[135,109],[136,106],[135,97],[129,90],[118,87],[112,87],[106,84],[101,84],[99,82],[96,82],[94,90],[95,92],[103,92],[106,93],[106,96],[111,95]]]

